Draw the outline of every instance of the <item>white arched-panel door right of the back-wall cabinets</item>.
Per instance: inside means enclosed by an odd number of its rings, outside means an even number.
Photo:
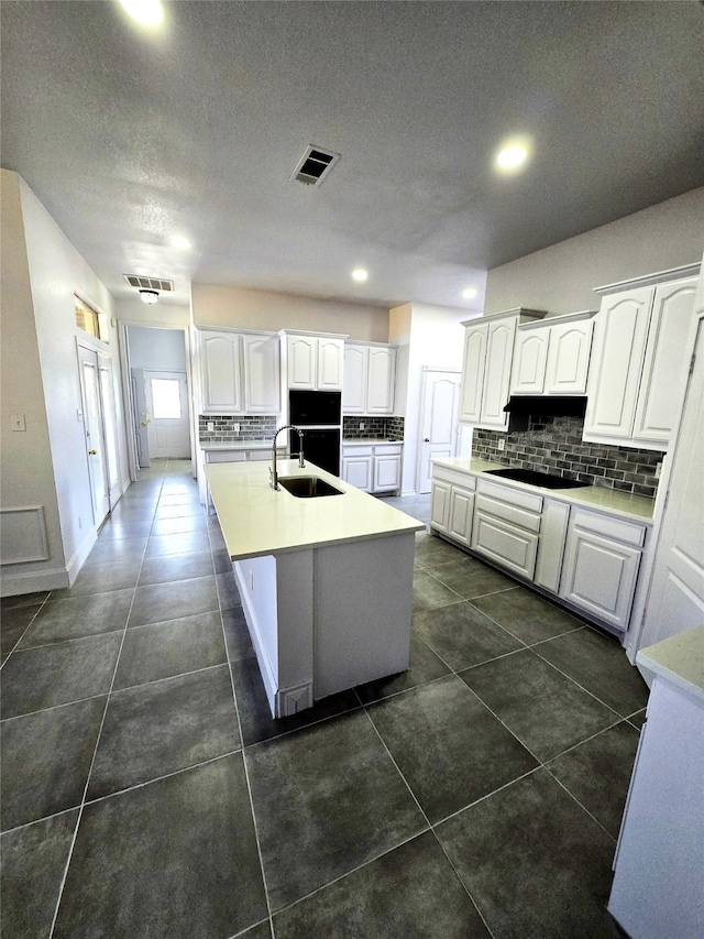
[[[432,457],[457,452],[460,380],[459,371],[424,370],[418,492],[430,492]]]

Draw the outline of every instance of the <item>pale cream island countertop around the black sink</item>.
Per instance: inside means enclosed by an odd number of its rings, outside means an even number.
[[[268,484],[268,463],[209,463],[206,478],[232,560],[425,531],[426,526],[324,472],[280,459],[279,476],[319,476],[342,495],[297,499]]]

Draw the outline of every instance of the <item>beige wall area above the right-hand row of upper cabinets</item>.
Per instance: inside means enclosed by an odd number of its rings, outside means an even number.
[[[704,187],[494,267],[484,313],[597,309],[594,287],[696,263],[703,248]]]

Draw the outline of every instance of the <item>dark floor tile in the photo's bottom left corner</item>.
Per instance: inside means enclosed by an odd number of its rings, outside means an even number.
[[[74,809],[0,837],[2,936],[36,939],[51,933],[77,821]]]

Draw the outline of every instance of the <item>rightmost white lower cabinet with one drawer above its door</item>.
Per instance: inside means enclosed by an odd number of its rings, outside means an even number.
[[[573,509],[560,597],[618,630],[628,629],[646,528]]]

